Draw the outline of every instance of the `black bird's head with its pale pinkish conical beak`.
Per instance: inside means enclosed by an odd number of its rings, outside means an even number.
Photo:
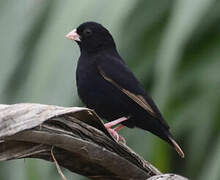
[[[85,22],[66,35],[74,40],[81,51],[96,52],[106,48],[115,48],[114,40],[109,31],[96,22]]]

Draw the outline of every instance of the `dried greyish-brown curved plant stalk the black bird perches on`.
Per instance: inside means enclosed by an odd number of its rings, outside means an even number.
[[[52,147],[59,165],[90,179],[146,180],[161,175],[125,144],[117,143],[92,110],[0,105],[0,161],[28,157],[54,161]]]

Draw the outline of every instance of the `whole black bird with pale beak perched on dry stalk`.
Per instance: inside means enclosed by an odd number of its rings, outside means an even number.
[[[81,51],[76,70],[79,97],[110,121],[106,128],[112,134],[123,125],[150,131],[184,157],[152,98],[120,57],[110,32],[101,24],[85,22],[66,37],[76,41]],[[119,123],[122,125],[110,129]]]

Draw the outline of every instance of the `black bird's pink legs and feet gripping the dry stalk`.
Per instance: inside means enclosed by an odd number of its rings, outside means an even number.
[[[115,125],[117,125],[117,124],[119,124],[119,123],[121,123],[123,121],[126,121],[126,120],[128,120],[127,117],[121,117],[121,118],[116,119],[114,121],[111,121],[109,123],[105,123],[106,129],[116,139],[116,141],[123,141],[123,142],[125,142],[124,138],[118,134],[118,131],[120,129],[122,129],[124,126],[121,124],[121,125],[119,125],[118,127],[114,128],[114,129],[111,129],[111,127],[115,126]]]

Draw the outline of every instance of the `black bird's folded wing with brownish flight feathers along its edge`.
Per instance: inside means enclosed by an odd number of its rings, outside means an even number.
[[[106,81],[121,90],[149,114],[158,118],[167,126],[153,100],[147,95],[140,82],[121,59],[105,57],[105,59],[98,60],[97,68]]]

